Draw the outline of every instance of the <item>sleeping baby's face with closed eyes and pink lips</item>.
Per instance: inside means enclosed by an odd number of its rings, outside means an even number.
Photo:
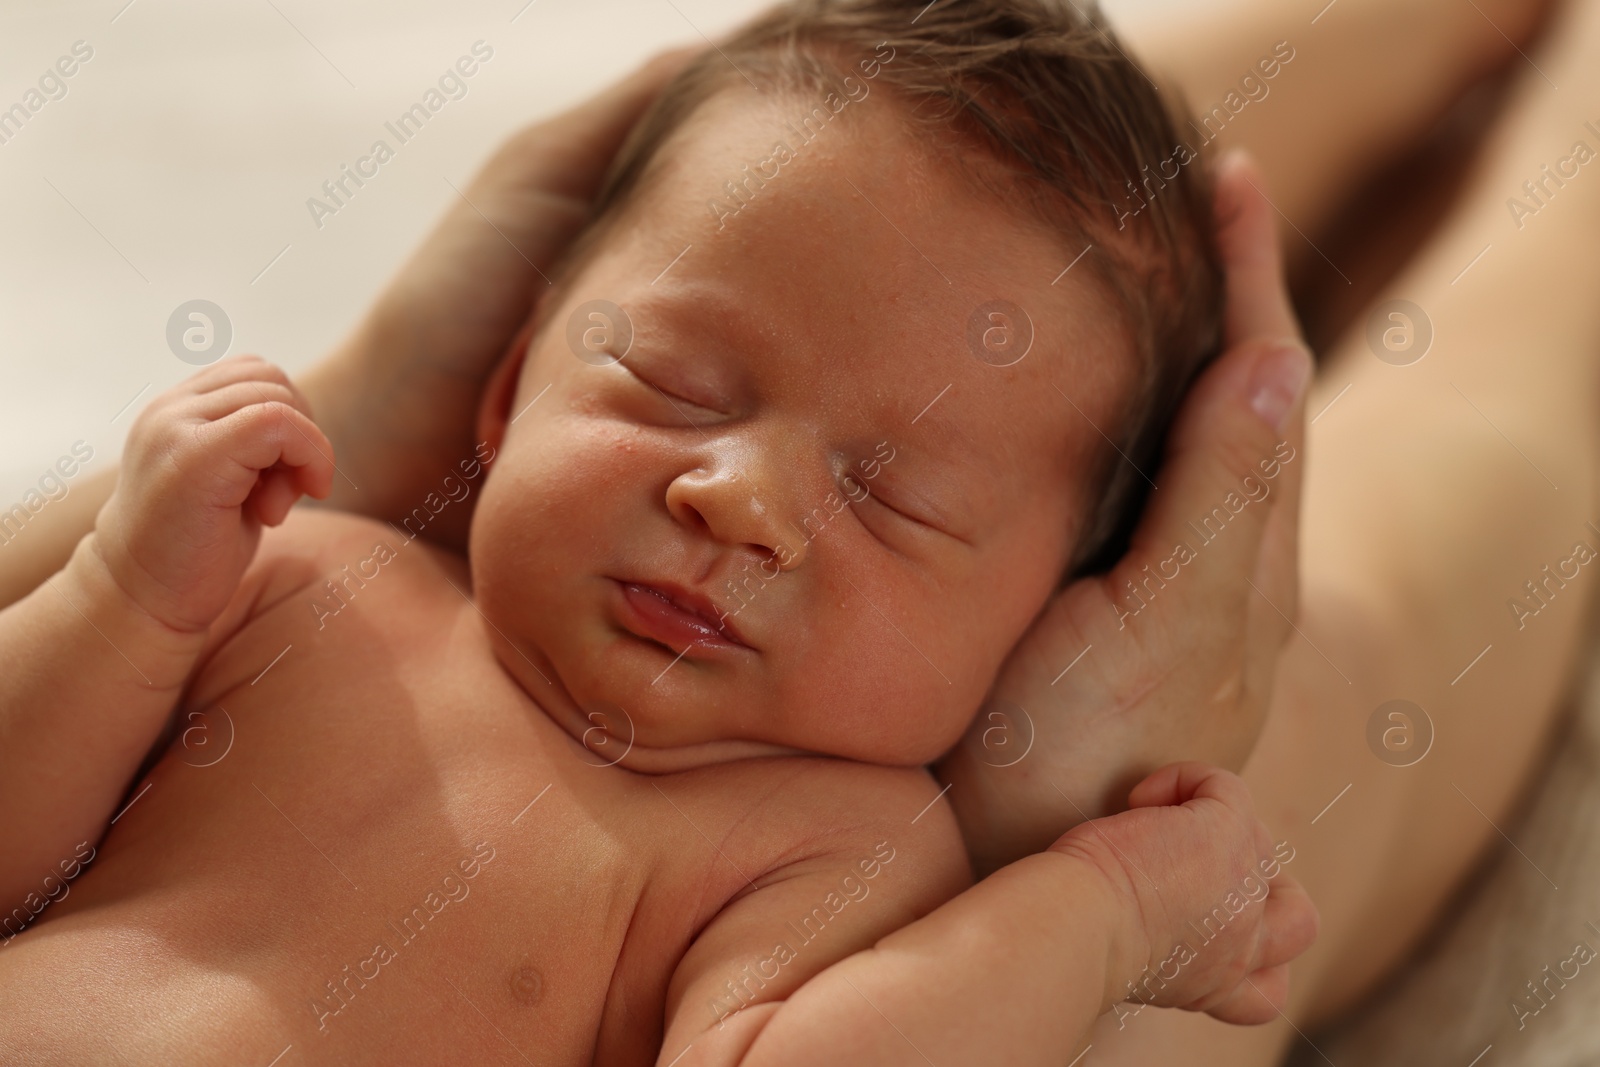
[[[886,91],[805,142],[814,102],[696,112],[485,400],[470,553],[498,654],[642,769],[952,745],[1061,576],[1131,384],[1098,288],[1059,277],[1082,250],[931,160]],[[723,182],[774,141],[792,157],[741,206]],[[619,362],[590,301],[626,312]],[[997,355],[970,323],[992,301],[1035,331],[1010,366],[1019,334]]]

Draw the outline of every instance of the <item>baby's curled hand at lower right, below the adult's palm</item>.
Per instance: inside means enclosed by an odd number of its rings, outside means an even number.
[[[1317,937],[1317,909],[1280,872],[1294,854],[1274,851],[1245,782],[1205,763],[1173,763],[1139,782],[1128,805],[1051,846],[1088,861],[1123,904],[1109,1001],[1237,1024],[1277,1017],[1288,963]]]

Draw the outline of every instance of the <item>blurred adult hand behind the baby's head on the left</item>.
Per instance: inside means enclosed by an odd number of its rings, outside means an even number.
[[[330,506],[398,522],[474,454],[483,382],[584,224],[622,138],[691,54],[662,53],[514,134],[355,333],[299,376],[339,461]],[[440,512],[427,536],[462,547],[474,502]]]

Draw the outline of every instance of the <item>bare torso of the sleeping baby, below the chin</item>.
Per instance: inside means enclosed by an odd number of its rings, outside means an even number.
[[[5,1062],[651,1062],[698,929],[803,846],[763,800],[813,761],[606,766],[626,726],[557,729],[462,565],[350,523],[309,520],[338,533],[318,581],[258,605],[94,862],[0,949]]]

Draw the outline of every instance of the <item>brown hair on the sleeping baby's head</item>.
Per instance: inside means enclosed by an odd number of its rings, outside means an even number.
[[[1093,2],[781,3],[662,90],[619,150],[568,262],[712,94],[746,80],[840,93],[850,90],[843,78],[890,86],[941,158],[989,195],[1021,194],[1067,254],[1091,246],[1077,269],[1122,309],[1139,360],[1115,422],[1096,427],[1112,448],[1098,450],[1086,478],[1090,512],[1067,577],[1107,569],[1126,550],[1168,422],[1218,352],[1222,270],[1210,176],[1178,128],[1187,109],[1163,102]]]

